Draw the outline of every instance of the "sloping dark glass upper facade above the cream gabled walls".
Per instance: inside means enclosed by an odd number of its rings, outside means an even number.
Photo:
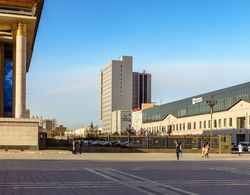
[[[229,109],[240,99],[250,102],[250,82],[143,110],[142,121],[143,123],[160,121],[168,114],[180,118],[208,113],[210,108],[207,100],[212,96],[217,100],[215,112]],[[194,103],[196,100],[198,101]]]

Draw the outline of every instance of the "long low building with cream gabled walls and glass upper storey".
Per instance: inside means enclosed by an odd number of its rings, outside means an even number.
[[[207,101],[216,104],[211,113]],[[172,135],[230,134],[232,141],[250,140],[250,82],[142,110],[132,127]]]

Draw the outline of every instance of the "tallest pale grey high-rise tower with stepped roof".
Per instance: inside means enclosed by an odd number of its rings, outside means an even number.
[[[104,132],[111,132],[112,112],[132,109],[133,57],[112,60],[101,71],[101,120]]]

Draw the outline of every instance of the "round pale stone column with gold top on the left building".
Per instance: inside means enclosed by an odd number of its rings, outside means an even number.
[[[16,35],[15,118],[22,118],[25,116],[26,47],[26,24],[19,22]]]

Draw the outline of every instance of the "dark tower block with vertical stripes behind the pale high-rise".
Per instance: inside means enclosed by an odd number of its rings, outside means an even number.
[[[133,109],[151,102],[151,74],[133,72]]]

